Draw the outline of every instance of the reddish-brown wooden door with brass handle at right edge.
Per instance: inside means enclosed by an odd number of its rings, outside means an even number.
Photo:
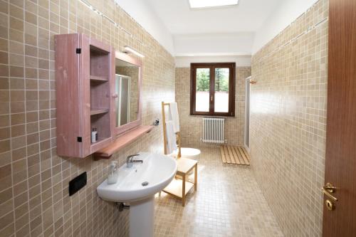
[[[356,236],[356,1],[330,0],[323,236]],[[333,196],[337,201],[333,200]]]

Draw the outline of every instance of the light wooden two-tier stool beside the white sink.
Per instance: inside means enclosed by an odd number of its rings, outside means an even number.
[[[182,180],[177,178],[173,179],[162,191],[182,199],[182,206],[185,206],[185,197],[190,189],[194,186],[194,191],[197,191],[198,162],[194,159],[179,158],[177,159],[177,165],[177,175],[181,176]],[[194,169],[194,182],[187,180],[187,176],[192,169]]]

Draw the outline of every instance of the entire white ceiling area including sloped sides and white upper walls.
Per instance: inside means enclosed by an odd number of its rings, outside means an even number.
[[[239,0],[190,9],[188,0],[115,0],[172,56],[251,56],[317,0]]]

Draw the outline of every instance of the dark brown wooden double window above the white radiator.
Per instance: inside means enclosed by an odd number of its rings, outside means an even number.
[[[191,64],[191,115],[235,116],[235,63]]]

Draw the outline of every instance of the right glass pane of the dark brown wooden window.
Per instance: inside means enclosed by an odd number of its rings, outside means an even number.
[[[229,68],[215,68],[214,112],[229,112]]]

